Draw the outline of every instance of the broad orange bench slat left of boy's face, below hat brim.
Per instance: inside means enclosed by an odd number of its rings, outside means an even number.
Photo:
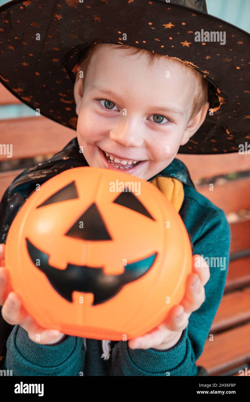
[[[0,121],[1,144],[12,144],[12,159],[55,154],[76,137],[76,131],[43,116]],[[0,155],[0,160],[10,160]]]

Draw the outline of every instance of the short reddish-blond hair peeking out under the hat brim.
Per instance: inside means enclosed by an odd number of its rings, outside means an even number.
[[[83,72],[85,72],[85,73],[87,72],[88,65],[89,65],[91,57],[96,49],[96,46],[98,46],[98,44],[101,44],[101,43],[102,42],[100,41],[100,39],[98,39],[97,41],[95,41],[94,45],[87,47],[87,49],[85,49],[85,51],[80,54],[79,59],[78,59],[78,66],[80,66],[80,68],[83,70]],[[114,46],[115,50],[126,49],[128,55],[146,54],[146,56],[148,57],[148,67],[152,67],[155,60],[159,60],[161,57],[168,57],[165,55],[161,55],[159,53],[153,53],[153,52],[150,52],[150,51],[147,51],[144,49],[140,49],[137,47],[133,47],[133,46],[116,45],[116,44],[112,44],[112,45]],[[117,47],[115,47],[115,46],[117,46]],[[207,96],[208,82],[202,76],[202,74],[200,74],[198,71],[196,71],[191,66],[185,64],[184,62],[175,60],[171,57],[168,57],[168,58],[169,58],[169,60],[171,60],[173,62],[179,63],[179,65],[183,69],[183,72],[187,75],[189,74],[189,76],[191,76],[197,82],[196,91],[195,91],[194,99],[193,99],[193,106],[192,106],[191,115],[189,118],[189,119],[191,119],[193,116],[197,115],[197,113],[200,111],[201,107],[203,107],[208,101],[208,96]]]

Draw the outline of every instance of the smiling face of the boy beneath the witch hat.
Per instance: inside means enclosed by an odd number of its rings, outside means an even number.
[[[168,166],[207,110],[189,121],[197,85],[190,77],[167,58],[148,68],[146,55],[128,56],[126,49],[98,45],[74,88],[77,139],[89,166],[144,180]]]

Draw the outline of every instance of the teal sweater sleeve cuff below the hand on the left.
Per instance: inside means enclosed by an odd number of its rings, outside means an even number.
[[[12,370],[12,375],[79,376],[84,361],[83,338],[68,336],[58,345],[40,345],[15,325],[7,340],[4,368]]]

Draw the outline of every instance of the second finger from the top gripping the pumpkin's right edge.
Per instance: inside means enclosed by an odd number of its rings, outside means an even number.
[[[198,308],[205,301],[205,288],[202,285],[199,276],[197,274],[191,274],[187,278],[185,297],[181,301],[181,305],[184,307],[185,313],[190,314],[198,310]]]

